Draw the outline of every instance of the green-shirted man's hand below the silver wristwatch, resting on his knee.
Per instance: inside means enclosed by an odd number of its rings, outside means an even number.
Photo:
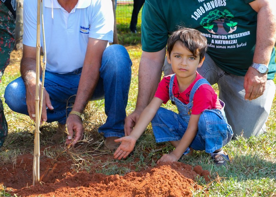
[[[267,74],[260,74],[255,68],[249,67],[244,76],[245,100],[253,100],[263,95]]]

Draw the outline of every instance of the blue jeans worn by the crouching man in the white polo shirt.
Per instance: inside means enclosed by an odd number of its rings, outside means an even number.
[[[100,68],[100,78],[91,97],[91,101],[105,98],[107,120],[98,132],[104,137],[123,137],[128,103],[128,91],[131,81],[131,59],[122,45],[114,44],[104,50]],[[72,110],[82,68],[66,74],[45,72],[44,87],[49,93],[54,110],[47,109],[47,122],[66,123]],[[5,100],[11,110],[28,114],[26,105],[26,87],[22,77],[8,84]]]

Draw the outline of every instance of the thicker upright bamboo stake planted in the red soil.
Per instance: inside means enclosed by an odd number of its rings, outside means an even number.
[[[37,35],[36,35],[36,88],[35,88],[35,147],[33,162],[33,185],[39,182],[39,71],[40,71],[40,0],[38,0],[37,8]]]

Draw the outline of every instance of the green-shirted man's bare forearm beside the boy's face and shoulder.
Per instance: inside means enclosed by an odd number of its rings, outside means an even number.
[[[139,113],[142,113],[143,109],[149,104],[158,87],[166,49],[154,53],[143,51],[143,53],[139,65],[138,96],[135,110]]]

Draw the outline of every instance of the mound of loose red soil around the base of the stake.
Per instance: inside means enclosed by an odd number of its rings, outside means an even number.
[[[180,162],[164,163],[144,171],[130,172],[125,176],[76,172],[71,161],[60,157],[40,162],[42,184],[32,184],[32,155],[19,156],[16,167],[1,166],[0,183],[21,197],[69,196],[191,196],[192,190],[201,189],[194,180],[197,175],[208,179],[209,172],[201,166],[194,169]],[[27,186],[28,184],[28,186]]]

